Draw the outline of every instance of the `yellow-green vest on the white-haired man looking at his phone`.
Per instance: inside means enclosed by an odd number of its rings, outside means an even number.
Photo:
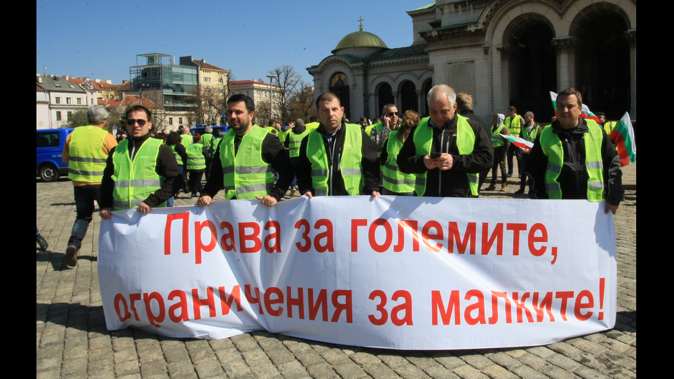
[[[459,148],[460,155],[468,155],[472,153],[472,149],[475,147],[475,132],[472,131],[470,124],[468,124],[468,118],[457,114],[457,148]],[[431,153],[431,147],[433,142],[433,127],[428,126],[428,120],[430,118],[422,118],[421,122],[417,126],[417,129],[414,131],[414,146],[416,147],[416,155],[428,155]],[[428,171],[424,173],[417,174],[417,184],[415,186],[415,192],[417,196],[423,196],[426,193],[426,175]],[[478,173],[466,173],[468,176],[468,188],[470,188],[470,194],[477,196],[477,188],[479,185],[479,174]]]

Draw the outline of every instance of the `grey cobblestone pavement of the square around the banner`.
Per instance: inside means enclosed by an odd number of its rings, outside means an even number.
[[[508,183],[505,193],[481,196],[524,197],[514,195],[519,180],[511,177]],[[221,193],[215,199],[222,199]],[[177,199],[176,205],[195,201]],[[67,267],[63,257],[75,219],[72,184],[38,181],[36,221],[49,248],[36,252],[36,378],[636,378],[636,205],[634,186],[614,216],[615,328],[539,347],[400,351],[268,332],[221,340],[167,338],[136,329],[108,332],[96,265],[100,217],[94,214],[78,265]]]

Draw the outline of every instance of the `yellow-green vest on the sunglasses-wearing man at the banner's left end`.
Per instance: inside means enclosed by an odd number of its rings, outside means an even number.
[[[112,155],[115,171],[112,180],[113,208],[115,210],[135,208],[149,195],[162,188],[164,177],[157,175],[157,156],[162,140],[148,138],[135,153],[135,158],[129,158],[129,140],[122,140]],[[163,202],[159,206],[166,206]]]

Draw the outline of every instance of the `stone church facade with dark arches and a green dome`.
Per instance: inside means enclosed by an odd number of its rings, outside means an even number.
[[[438,0],[407,14],[411,46],[361,27],[307,68],[316,94],[334,91],[355,122],[387,102],[427,116],[428,89],[448,84],[486,120],[514,105],[545,123],[550,91],[576,87],[591,111],[636,120],[635,0]]]

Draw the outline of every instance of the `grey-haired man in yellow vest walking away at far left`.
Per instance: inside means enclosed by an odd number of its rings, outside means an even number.
[[[102,105],[87,109],[89,125],[76,127],[63,145],[63,162],[68,163],[68,177],[72,180],[77,217],[70,232],[65,250],[65,263],[77,265],[77,254],[82,240],[94,216],[94,208],[100,204],[100,180],[105,169],[105,160],[117,140],[105,127],[108,111]]]

